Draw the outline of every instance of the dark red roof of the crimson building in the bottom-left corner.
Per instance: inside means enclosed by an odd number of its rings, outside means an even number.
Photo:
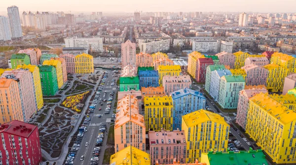
[[[29,138],[32,132],[37,128],[36,125],[28,124],[18,120],[12,120],[0,126],[0,133],[7,133],[19,137]]]

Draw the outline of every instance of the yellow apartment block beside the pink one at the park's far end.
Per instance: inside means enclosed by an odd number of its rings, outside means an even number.
[[[94,73],[94,59],[92,55],[81,54],[75,56],[75,74]]]

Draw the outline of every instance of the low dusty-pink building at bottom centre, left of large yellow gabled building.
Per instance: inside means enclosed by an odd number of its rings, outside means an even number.
[[[184,131],[149,131],[150,160],[152,165],[185,163],[186,139]]]

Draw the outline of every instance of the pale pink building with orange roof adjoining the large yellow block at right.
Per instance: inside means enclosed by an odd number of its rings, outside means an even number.
[[[239,92],[236,123],[240,125],[244,130],[246,129],[249,100],[251,97],[261,92],[262,93],[268,92],[264,85],[245,86],[245,89]]]

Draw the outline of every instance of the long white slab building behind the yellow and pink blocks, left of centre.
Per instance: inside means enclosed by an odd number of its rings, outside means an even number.
[[[68,37],[65,38],[66,48],[83,47],[94,52],[103,52],[103,38],[101,37]]]

